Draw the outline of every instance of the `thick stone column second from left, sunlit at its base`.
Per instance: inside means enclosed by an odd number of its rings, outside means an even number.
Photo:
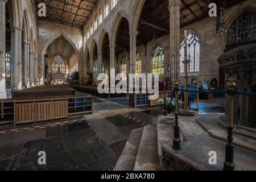
[[[11,28],[11,88],[22,89],[22,30]]]

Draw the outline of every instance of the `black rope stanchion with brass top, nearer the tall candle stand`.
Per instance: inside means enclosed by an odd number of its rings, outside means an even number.
[[[175,150],[180,150],[180,127],[178,121],[178,92],[179,92],[179,82],[175,81],[175,126],[174,126],[174,142],[172,148]]]

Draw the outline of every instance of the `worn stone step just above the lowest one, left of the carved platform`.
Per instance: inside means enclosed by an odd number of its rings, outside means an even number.
[[[145,126],[134,165],[134,171],[160,171],[156,125]]]

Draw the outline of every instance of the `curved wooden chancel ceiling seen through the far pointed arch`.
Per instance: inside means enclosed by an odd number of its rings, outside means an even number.
[[[49,59],[52,59],[56,55],[61,55],[65,60],[69,61],[75,53],[75,49],[67,39],[60,36],[49,44],[46,52]]]

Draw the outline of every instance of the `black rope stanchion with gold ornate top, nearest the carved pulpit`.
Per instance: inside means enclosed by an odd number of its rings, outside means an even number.
[[[233,107],[234,107],[234,92],[237,90],[237,83],[234,78],[230,78],[228,82],[228,144],[226,145],[226,155],[224,162],[224,171],[234,171],[234,146],[233,142]]]

